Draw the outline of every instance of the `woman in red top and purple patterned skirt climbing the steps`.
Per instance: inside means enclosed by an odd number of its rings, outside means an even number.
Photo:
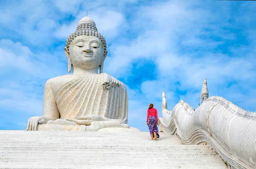
[[[154,105],[151,103],[148,106],[148,110],[147,110],[147,125],[151,135],[151,140],[153,139],[157,140],[157,138],[159,138],[157,124],[158,124],[157,109],[155,109]]]

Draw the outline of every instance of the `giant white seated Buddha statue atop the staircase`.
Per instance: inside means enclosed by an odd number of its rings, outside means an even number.
[[[68,72],[73,67],[73,74],[46,81],[43,116],[31,117],[26,130],[129,128],[127,90],[122,82],[102,72],[108,51],[95,22],[82,18],[66,45]]]

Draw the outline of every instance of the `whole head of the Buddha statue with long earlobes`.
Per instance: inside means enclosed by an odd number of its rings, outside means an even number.
[[[76,31],[67,38],[64,49],[71,68],[98,69],[103,71],[103,62],[108,54],[105,38],[98,33],[93,19],[88,16],[78,22]]]

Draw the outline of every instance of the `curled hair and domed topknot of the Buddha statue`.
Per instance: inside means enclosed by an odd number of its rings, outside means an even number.
[[[80,35],[95,36],[95,37],[99,38],[104,47],[104,54],[106,54],[106,51],[107,51],[106,40],[98,32],[94,20],[88,16],[79,20],[78,26],[76,27],[76,31],[74,33],[72,33],[71,35],[69,35],[69,37],[67,38],[66,46],[67,46],[68,51],[69,51],[69,45],[71,44],[72,40],[74,40],[75,37],[78,37]]]

